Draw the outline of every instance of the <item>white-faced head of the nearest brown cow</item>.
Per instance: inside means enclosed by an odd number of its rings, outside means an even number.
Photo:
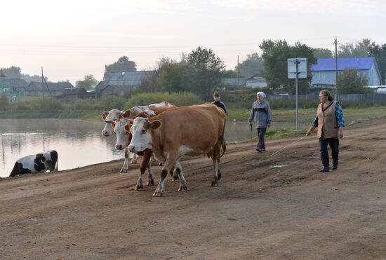
[[[152,134],[151,131],[159,128],[161,121],[155,120],[150,122],[147,118],[135,118],[133,124],[125,125],[125,130],[131,132],[132,138],[128,144],[128,150],[134,153],[152,149]]]

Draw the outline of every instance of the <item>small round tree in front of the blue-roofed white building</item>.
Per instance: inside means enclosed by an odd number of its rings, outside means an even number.
[[[367,85],[366,76],[360,74],[356,69],[345,69],[338,75],[340,94],[371,93],[372,90],[364,88],[365,85]]]

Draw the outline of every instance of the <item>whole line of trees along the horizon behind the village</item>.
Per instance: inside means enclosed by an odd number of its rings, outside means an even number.
[[[267,80],[267,85],[270,89],[284,88],[289,93],[294,92],[294,80],[287,78],[287,58],[288,57],[306,57],[307,64],[315,64],[318,57],[333,57],[331,50],[326,48],[311,48],[300,42],[290,46],[287,41],[279,40],[262,41],[260,44],[262,54],[251,53],[246,60],[241,62],[239,66],[231,70],[225,69],[224,62],[215,55],[213,50],[198,47],[192,50],[191,53],[182,53],[180,61],[170,58],[162,58],[157,62],[157,71],[153,78],[143,81],[139,90],[142,92],[166,91],[166,92],[183,92],[189,91],[196,93],[204,99],[211,97],[213,91],[220,87],[221,78],[248,78],[254,75],[264,76]],[[346,43],[339,47],[338,57],[369,57],[373,56],[377,59],[380,67],[382,78],[386,76],[386,43],[379,45],[371,42],[369,39],[363,39],[358,43]],[[109,81],[109,77],[113,72],[136,71],[136,64],[129,60],[128,57],[120,57],[117,62],[105,65],[105,73],[103,79]],[[4,74],[8,78],[22,78],[20,68],[11,67],[3,69]],[[365,78],[355,71],[347,71],[341,74],[346,79],[355,76],[354,87],[349,83],[347,91],[362,90],[359,83],[364,83]],[[300,93],[308,93],[310,90],[310,82],[312,74],[310,66],[307,69],[307,78],[301,79],[299,83]],[[25,76],[25,75],[24,75]],[[33,80],[39,81],[39,76],[30,76]],[[47,78],[46,78],[47,79]],[[31,79],[32,80],[32,79]],[[339,81],[339,78],[338,78]],[[91,90],[98,81],[93,75],[86,75],[83,80],[76,81],[76,87]],[[340,85],[340,91],[345,92],[345,81]],[[366,83],[364,84],[366,85]],[[356,90],[357,89],[357,90]]]

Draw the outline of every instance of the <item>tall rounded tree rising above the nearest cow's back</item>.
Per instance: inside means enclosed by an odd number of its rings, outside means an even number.
[[[198,47],[192,50],[186,57],[189,73],[194,78],[192,81],[192,92],[210,100],[213,91],[219,88],[224,62],[217,57],[213,50]]]

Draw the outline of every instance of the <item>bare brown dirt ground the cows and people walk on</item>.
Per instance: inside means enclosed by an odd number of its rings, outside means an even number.
[[[121,160],[1,179],[1,259],[384,259],[386,121],[347,128],[329,173],[315,135],[269,157],[294,140],[229,145],[218,187],[187,158],[161,198]]]

